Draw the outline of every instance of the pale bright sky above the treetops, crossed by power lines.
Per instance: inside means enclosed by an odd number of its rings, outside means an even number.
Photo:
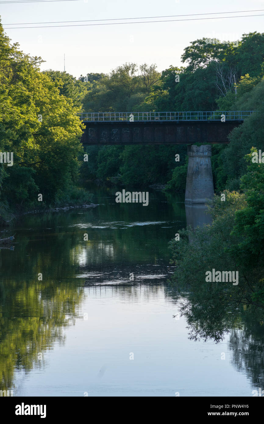
[[[206,37],[235,41],[243,33],[263,32],[264,0],[221,2],[194,0],[72,0],[41,3],[1,3],[0,17],[6,34],[18,42],[20,50],[45,61],[41,70],[65,70],[75,77],[87,73],[110,73],[125,62],[156,64],[162,71],[170,65],[183,66],[181,55],[190,42]],[[14,0],[13,0],[14,1]],[[262,11],[256,11],[263,9]],[[249,12],[245,12],[249,11]],[[253,11],[253,12],[250,12]],[[223,12],[236,12],[224,14]],[[238,13],[239,12],[239,13]],[[220,13],[218,15],[211,15]],[[203,16],[164,17],[171,15]],[[248,15],[263,16],[248,16]],[[226,19],[186,20],[183,22],[145,22],[118,25],[28,28],[34,22],[113,20],[107,22],[69,22],[39,24],[85,25],[91,23],[183,20],[207,17],[245,16]],[[118,21],[125,18],[143,18]],[[15,28],[17,26],[27,28]]]

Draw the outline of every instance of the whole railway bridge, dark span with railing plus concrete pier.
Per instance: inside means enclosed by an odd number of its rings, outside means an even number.
[[[83,145],[188,145],[185,203],[204,204],[214,195],[211,145],[228,144],[228,134],[255,111],[81,112]]]

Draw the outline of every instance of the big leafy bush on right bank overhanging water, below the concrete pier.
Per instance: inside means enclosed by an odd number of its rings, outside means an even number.
[[[195,340],[222,340],[230,327],[238,324],[240,305],[256,312],[260,321],[264,315],[264,262],[253,263],[244,256],[245,228],[240,233],[237,231],[242,216],[250,215],[247,196],[238,192],[224,193],[225,201],[216,196],[209,209],[213,218],[211,225],[198,227],[195,233],[192,229],[183,229],[179,232],[180,240],[170,242],[172,263],[176,265],[172,284],[189,293],[180,310],[187,318],[190,338]],[[254,243],[258,245],[256,239]],[[238,271],[239,284],[206,282],[206,272],[213,268],[221,272]]]

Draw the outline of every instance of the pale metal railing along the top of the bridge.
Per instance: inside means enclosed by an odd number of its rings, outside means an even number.
[[[220,121],[244,120],[256,111],[222,111],[222,112],[80,112],[83,122],[117,122],[117,121]]]

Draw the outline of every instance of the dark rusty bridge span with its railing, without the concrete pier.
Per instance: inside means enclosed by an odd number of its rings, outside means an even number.
[[[226,144],[233,128],[253,113],[85,112],[80,114],[85,125],[81,142],[84,145]]]

